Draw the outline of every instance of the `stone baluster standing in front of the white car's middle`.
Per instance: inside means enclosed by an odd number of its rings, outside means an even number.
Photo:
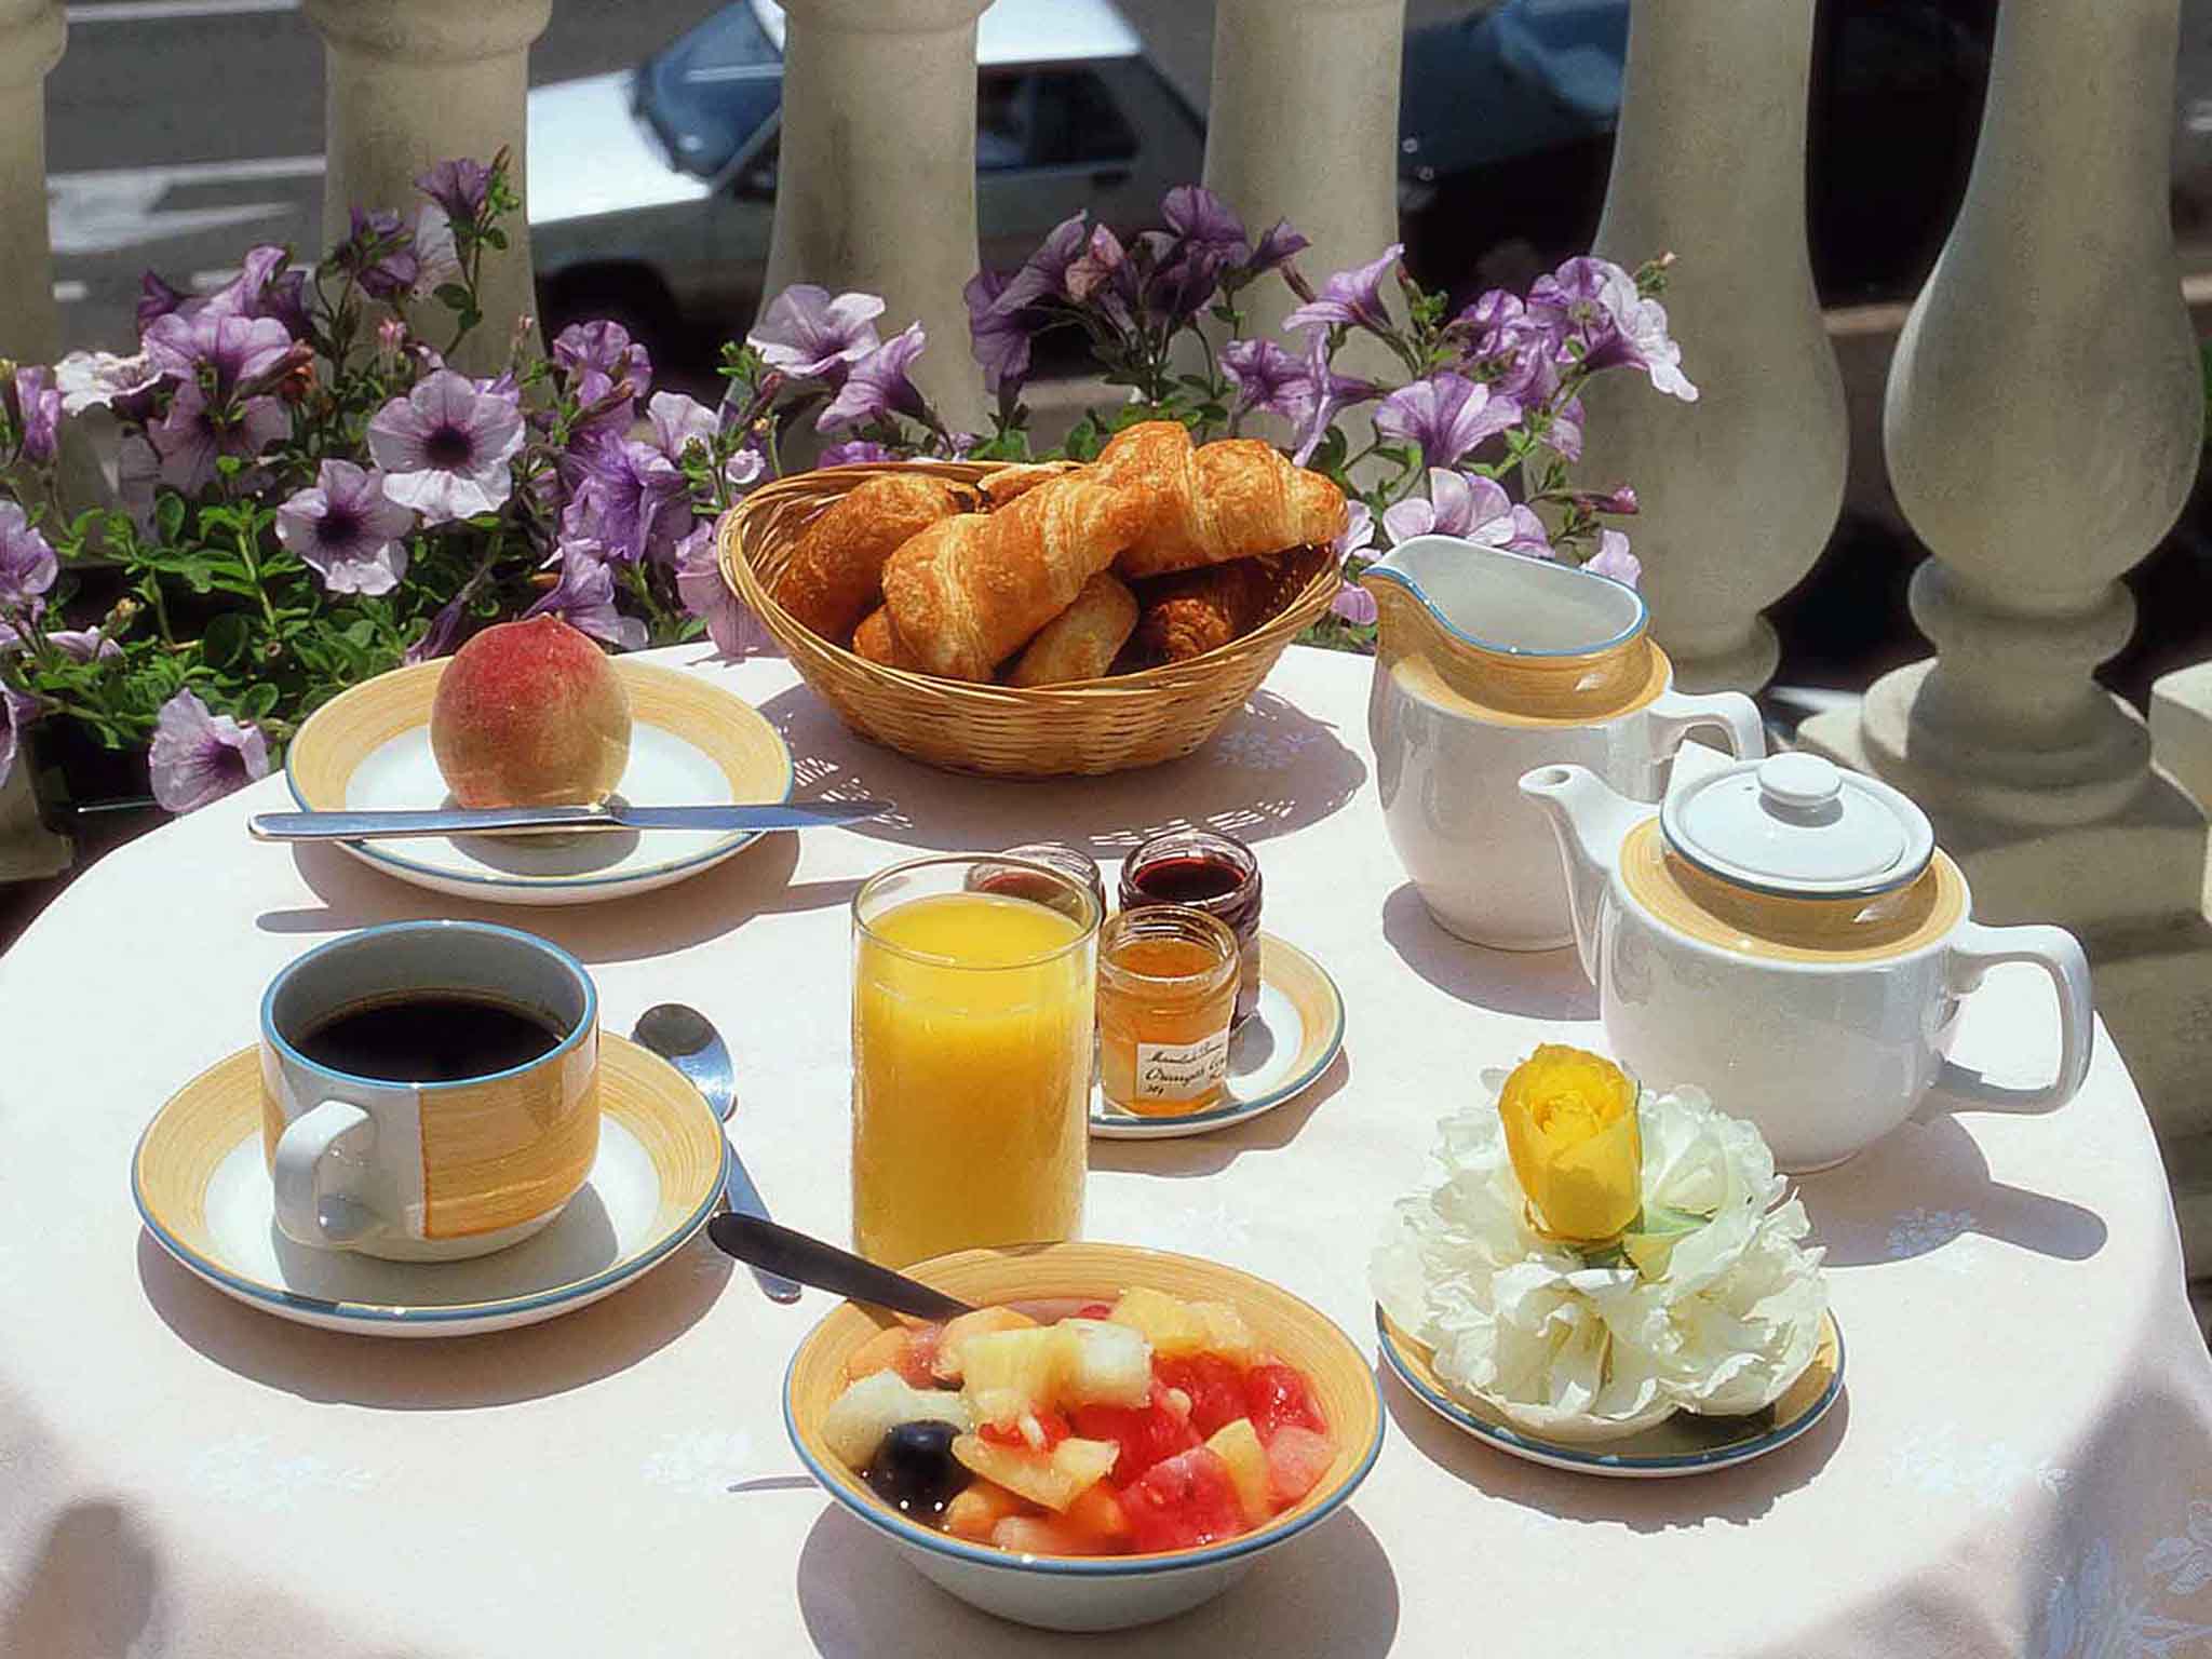
[[[785,0],[783,142],[763,303],[792,283],[920,319],[916,385],[987,427],[960,288],[975,274],[975,20],[991,0]]]

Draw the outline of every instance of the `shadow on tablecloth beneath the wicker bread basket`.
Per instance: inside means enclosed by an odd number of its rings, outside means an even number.
[[[1239,841],[1305,830],[1343,807],[1367,763],[1336,728],[1274,692],[1259,692],[1197,752],[1099,779],[978,779],[940,772],[849,732],[805,686],[761,703],[799,765],[801,799],[896,801],[856,836],[918,852],[998,852],[1068,841],[1119,858],[1161,830],[1203,825]]]

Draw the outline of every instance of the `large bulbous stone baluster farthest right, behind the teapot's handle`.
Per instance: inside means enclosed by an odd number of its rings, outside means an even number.
[[[1966,201],[1889,369],[1938,655],[1816,734],[1938,821],[2090,823],[2150,776],[2143,723],[2090,670],[2135,628],[2115,577],[2172,526],[2203,438],[2166,197],[2177,24],[2177,0],[1997,9]]]

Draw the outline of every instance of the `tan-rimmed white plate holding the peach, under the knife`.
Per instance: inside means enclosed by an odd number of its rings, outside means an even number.
[[[630,763],[615,792],[650,807],[754,805],[792,796],[792,754],[761,714],[706,675],[608,657],[630,695]],[[429,748],[445,659],[396,668],[332,697],[299,728],[285,783],[310,812],[447,805]],[[416,887],[493,905],[591,905],[650,894],[719,865],[759,830],[597,830],[577,836],[341,841]]]

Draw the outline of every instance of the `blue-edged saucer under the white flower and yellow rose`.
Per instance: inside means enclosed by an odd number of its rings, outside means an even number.
[[[1701,1418],[1694,1411],[1677,1411],[1621,1440],[1575,1444],[1528,1433],[1511,1425],[1495,1407],[1451,1389],[1431,1367],[1429,1349],[1398,1329],[1396,1321],[1380,1307],[1376,1310],[1376,1338],[1383,1363],[1453,1429],[1513,1458],[1526,1458],[1548,1469],[1568,1469],[1577,1475],[1663,1480],[1734,1469],[1739,1462],[1765,1458],[1770,1451],[1787,1447],[1827,1416],[1836,1396],[1843,1394],[1843,1329],[1834,1314],[1823,1314],[1812,1365],[1765,1411],[1741,1418]]]

